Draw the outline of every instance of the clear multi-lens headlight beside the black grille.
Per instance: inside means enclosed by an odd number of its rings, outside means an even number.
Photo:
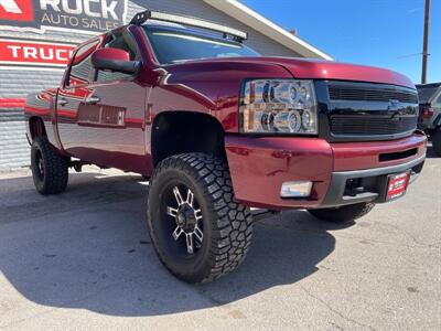
[[[312,81],[256,79],[245,83],[241,129],[252,134],[318,134]]]

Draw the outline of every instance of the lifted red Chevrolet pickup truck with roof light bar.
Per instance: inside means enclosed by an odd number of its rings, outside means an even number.
[[[36,190],[63,192],[86,163],[150,178],[152,243],[189,282],[244,260],[255,209],[351,222],[405,194],[427,145],[407,77],[246,39],[146,11],[80,44],[60,87],[26,99]]]

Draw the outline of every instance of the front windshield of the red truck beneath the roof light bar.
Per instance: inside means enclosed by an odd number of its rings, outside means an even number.
[[[211,39],[180,30],[143,26],[161,64],[189,60],[259,56],[251,49],[233,41]]]

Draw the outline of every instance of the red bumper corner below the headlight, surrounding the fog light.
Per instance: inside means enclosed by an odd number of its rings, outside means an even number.
[[[315,138],[225,138],[236,199],[256,207],[306,207],[319,205],[333,171],[331,146]],[[284,181],[314,182],[311,199],[281,199]]]

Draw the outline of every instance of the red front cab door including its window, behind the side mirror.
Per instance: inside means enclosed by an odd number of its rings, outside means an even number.
[[[138,45],[122,28],[106,36],[103,47],[120,49],[130,61],[141,61]],[[87,86],[90,94],[78,110],[78,126],[86,130],[98,164],[147,173],[146,104],[151,86],[136,75],[96,71]]]

